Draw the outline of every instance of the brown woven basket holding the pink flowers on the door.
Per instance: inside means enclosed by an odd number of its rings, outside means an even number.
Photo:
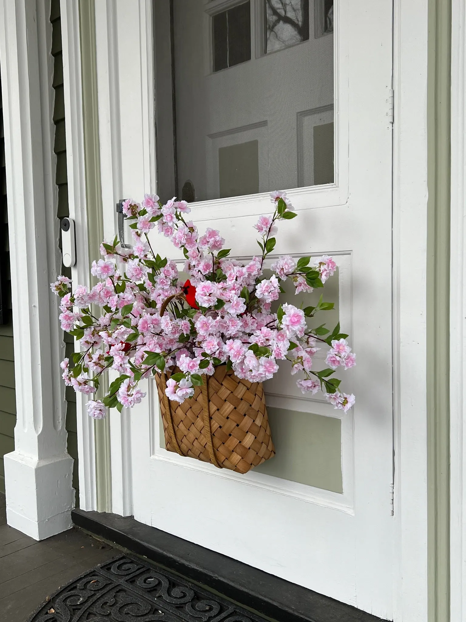
[[[179,404],[165,395],[171,373],[155,376],[169,452],[237,473],[273,458],[262,383],[237,378],[221,365],[213,376],[203,376],[204,386],[194,387],[193,397]]]

